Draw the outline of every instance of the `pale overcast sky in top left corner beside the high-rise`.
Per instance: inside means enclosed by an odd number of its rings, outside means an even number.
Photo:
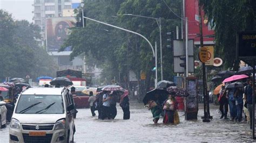
[[[33,22],[32,4],[33,0],[0,0],[0,9],[12,13],[12,17],[15,19],[25,19],[29,22]]]

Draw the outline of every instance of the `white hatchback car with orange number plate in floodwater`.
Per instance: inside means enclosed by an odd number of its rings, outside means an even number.
[[[76,127],[68,89],[29,88],[19,95],[10,142],[72,142]]]

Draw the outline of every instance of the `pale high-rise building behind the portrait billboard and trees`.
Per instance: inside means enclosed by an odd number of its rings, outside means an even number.
[[[48,51],[48,54],[53,56],[60,70],[75,69],[75,70],[83,71],[85,63],[83,58],[80,58],[80,57],[76,57],[72,61],[69,60],[71,48],[69,48],[69,50],[66,50],[64,52],[58,52],[58,48],[62,44],[61,42],[58,43],[57,45],[58,47],[57,46],[54,47],[56,44],[55,45],[52,44],[51,49],[55,49],[55,50],[51,50],[51,51],[49,50],[50,48],[49,48],[49,44],[47,44],[47,41],[48,40],[50,41],[51,39],[47,37],[47,32],[56,34],[58,31],[57,31],[57,26],[54,26],[54,25],[49,26],[47,25],[46,21],[48,19],[56,20],[56,19],[62,19],[62,18],[65,19],[66,17],[69,17],[69,18],[75,17],[73,10],[78,8],[80,6],[80,3],[81,3],[81,0],[34,0],[34,4],[33,4],[34,11],[32,11],[32,13],[34,13],[35,15],[33,16],[33,21],[36,25],[41,27],[41,30],[42,30],[41,34],[43,37],[42,45],[46,46],[46,50]],[[63,23],[59,25],[63,25]]]

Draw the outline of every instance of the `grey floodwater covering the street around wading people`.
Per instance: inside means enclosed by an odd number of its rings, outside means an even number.
[[[131,119],[123,120],[123,111],[117,105],[114,120],[98,120],[92,117],[90,109],[78,109],[75,142],[247,142],[252,141],[249,125],[243,121],[219,119],[218,106],[211,105],[213,119],[203,123],[203,105],[200,104],[198,120],[185,120],[184,112],[179,112],[180,124],[153,124],[150,110],[143,104],[132,102]],[[96,111],[97,115],[97,111]],[[9,125],[0,129],[0,142],[8,142]]]

